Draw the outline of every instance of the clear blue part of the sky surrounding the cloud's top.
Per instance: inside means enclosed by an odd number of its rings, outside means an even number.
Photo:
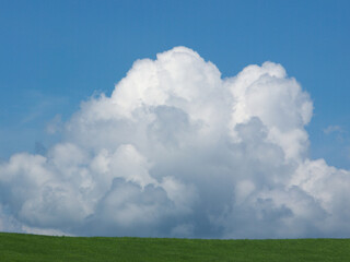
[[[43,130],[139,58],[187,46],[223,76],[281,63],[314,102],[311,155],[350,168],[349,1],[1,1],[0,156],[49,144]],[[341,132],[324,133],[329,126]]]

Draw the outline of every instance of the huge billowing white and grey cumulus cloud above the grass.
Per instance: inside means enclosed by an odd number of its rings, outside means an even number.
[[[308,159],[313,105],[282,66],[222,79],[176,47],[82,103],[45,155],[0,164],[0,229],[349,237],[350,171]]]

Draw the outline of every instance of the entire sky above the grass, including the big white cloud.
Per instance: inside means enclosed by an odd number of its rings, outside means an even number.
[[[0,230],[349,237],[349,10],[0,1]]]

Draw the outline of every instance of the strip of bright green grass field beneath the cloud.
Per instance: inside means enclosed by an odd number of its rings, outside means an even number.
[[[350,239],[202,240],[0,233],[0,261],[350,261]]]

